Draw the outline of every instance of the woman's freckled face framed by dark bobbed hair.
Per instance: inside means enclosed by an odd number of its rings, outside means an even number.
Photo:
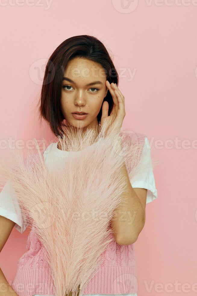
[[[68,124],[74,127],[98,126],[97,115],[108,89],[103,67],[85,58],[74,58],[67,63],[61,88],[61,111]],[[75,118],[74,112],[87,113],[84,119]],[[67,124],[66,123],[66,124]]]

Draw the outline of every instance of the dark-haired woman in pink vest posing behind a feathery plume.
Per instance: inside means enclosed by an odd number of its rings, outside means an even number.
[[[61,43],[50,56],[42,85],[40,98],[40,118],[44,118],[55,136],[62,136],[64,127],[72,127],[75,133],[80,126],[85,132],[88,128],[95,130],[95,135],[103,124],[122,126],[125,116],[124,96],[118,88],[118,75],[114,64],[105,48],[97,38],[80,35]],[[81,113],[81,114],[80,114]],[[83,113],[83,114],[82,114]],[[148,139],[144,138],[143,153],[149,148]],[[52,143],[45,150],[46,164],[55,164],[68,151],[61,150],[61,143]],[[51,161],[53,160],[53,161]],[[128,202],[118,210],[132,212],[136,217],[133,223],[129,219],[114,219],[111,226],[114,240],[103,252],[103,263],[98,273],[91,279],[84,294],[130,294],[136,296],[136,262],[133,243],[137,240],[145,223],[145,204],[157,198],[155,180],[150,167],[136,182],[130,183],[127,169],[122,174],[127,180]],[[21,233],[26,229],[20,207],[12,208],[11,199],[14,192],[9,183],[1,192],[0,219],[3,248],[13,227]],[[117,217],[121,217],[121,215]],[[0,270],[0,280],[5,282],[11,295],[54,295],[52,279],[45,269],[43,246],[32,232],[28,236],[28,251],[18,261],[17,274],[11,286],[8,285]],[[19,288],[22,284],[22,288]],[[31,288],[27,288],[29,285]],[[11,291],[11,290],[10,290]],[[8,294],[6,294],[8,295]]]

